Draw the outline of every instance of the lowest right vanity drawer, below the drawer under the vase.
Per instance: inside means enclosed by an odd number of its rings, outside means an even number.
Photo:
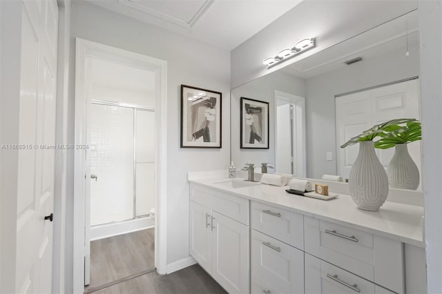
[[[394,292],[305,254],[305,293],[393,294]]]

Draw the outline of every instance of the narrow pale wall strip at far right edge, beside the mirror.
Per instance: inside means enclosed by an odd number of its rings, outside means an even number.
[[[427,293],[442,293],[442,3],[419,1]]]

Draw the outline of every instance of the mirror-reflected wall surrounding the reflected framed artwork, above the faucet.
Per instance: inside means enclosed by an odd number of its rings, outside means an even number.
[[[275,163],[275,90],[305,97],[305,81],[285,72],[251,81],[231,91],[231,158],[237,168],[249,161],[258,167],[262,162]],[[269,102],[269,149],[240,149],[241,97]],[[258,171],[256,170],[256,171]]]

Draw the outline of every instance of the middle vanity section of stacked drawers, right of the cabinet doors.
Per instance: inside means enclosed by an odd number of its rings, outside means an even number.
[[[302,215],[251,202],[251,293],[304,293]]]

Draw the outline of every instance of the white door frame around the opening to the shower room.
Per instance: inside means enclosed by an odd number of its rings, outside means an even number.
[[[167,61],[148,57],[135,52],[107,46],[101,43],[76,38],[75,52],[75,145],[86,144],[88,122],[88,97],[86,97],[86,60],[97,57],[118,61],[138,68],[155,71],[157,76],[157,97],[155,105],[155,267],[160,274],[166,273],[166,98]],[[86,181],[90,170],[86,162],[86,149],[75,149],[74,159],[74,250],[73,280],[74,293],[84,292],[84,246],[85,246],[85,204]]]

